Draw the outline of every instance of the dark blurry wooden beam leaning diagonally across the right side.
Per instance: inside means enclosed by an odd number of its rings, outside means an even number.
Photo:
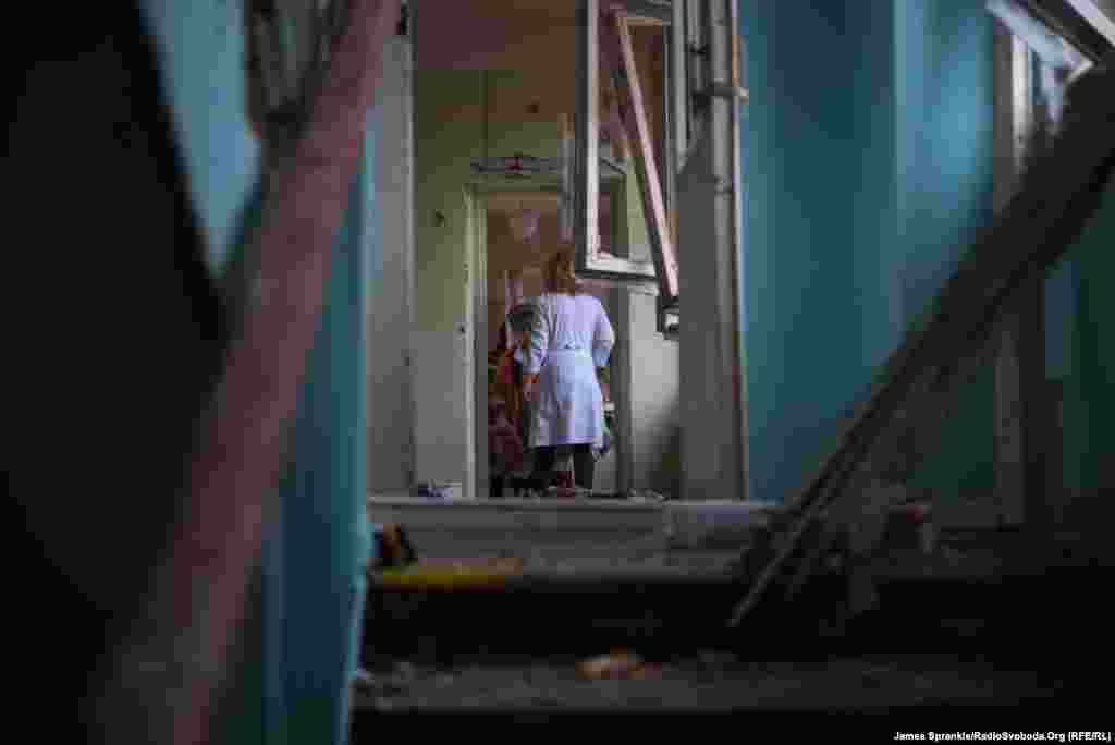
[[[1018,193],[976,242],[946,283],[927,320],[888,359],[866,403],[840,444],[791,502],[786,539],[774,560],[734,609],[737,626],[803,549],[806,528],[843,501],[854,511],[862,484],[888,465],[879,453],[903,407],[933,410],[930,398],[954,393],[981,364],[1009,299],[1068,250],[1115,178],[1115,66],[1095,68],[1074,85],[1064,128],[1051,151],[1036,158]],[[939,407],[938,416],[939,416]],[[914,425],[917,420],[912,422]],[[893,447],[893,442],[890,443]],[[861,463],[873,461],[852,478]]]

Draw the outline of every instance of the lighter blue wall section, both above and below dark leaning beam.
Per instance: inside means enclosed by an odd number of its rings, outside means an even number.
[[[993,20],[982,2],[895,2],[898,240],[893,265],[909,328],[992,216]],[[913,478],[938,501],[995,488],[990,367],[959,391],[939,448]]]

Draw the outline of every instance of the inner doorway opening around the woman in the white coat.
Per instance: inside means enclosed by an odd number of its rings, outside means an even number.
[[[478,195],[479,196],[479,195]],[[558,188],[507,188],[488,191],[475,202],[475,220],[483,231],[474,235],[477,255],[474,298],[477,496],[514,499],[534,494],[529,483],[533,470],[530,445],[531,416],[522,398],[524,351],[533,302],[544,292],[543,267],[556,252],[570,248],[563,230],[562,192]],[[483,277],[481,275],[483,268]],[[618,293],[602,282],[583,282],[588,294],[603,304],[612,319],[617,342]],[[601,496],[618,491],[615,413],[622,406],[624,387],[617,386],[611,370],[614,357],[602,369],[605,443],[595,452],[592,491]],[[487,416],[485,416],[487,413]],[[483,432],[482,432],[483,427]],[[488,434],[513,433],[507,437]],[[506,443],[506,446],[504,445]],[[559,452],[558,470],[572,480],[572,458]]]

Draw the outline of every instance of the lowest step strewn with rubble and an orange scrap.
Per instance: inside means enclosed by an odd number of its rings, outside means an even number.
[[[582,659],[488,658],[416,665],[378,685],[358,685],[353,705],[376,712],[423,710],[830,710],[933,703],[1030,705],[1060,686],[1035,671],[996,669],[952,655],[832,657],[758,662],[708,650],[648,664],[617,650]],[[374,674],[375,675],[375,674]]]

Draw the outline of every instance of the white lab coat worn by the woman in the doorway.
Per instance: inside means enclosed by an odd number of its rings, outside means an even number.
[[[526,373],[540,374],[531,405],[531,447],[604,442],[604,403],[597,380],[615,333],[591,294],[544,294],[531,329]]]

